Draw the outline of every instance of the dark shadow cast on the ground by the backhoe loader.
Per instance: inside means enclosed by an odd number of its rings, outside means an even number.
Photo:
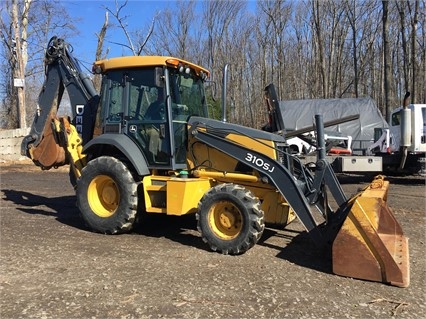
[[[10,189],[3,189],[2,192],[3,200],[13,202],[19,206],[17,209],[24,213],[54,216],[60,223],[90,231],[79,215],[75,196],[45,197]],[[201,236],[198,234],[193,214],[185,216],[144,215],[142,218],[138,218],[131,233],[155,238],[164,237],[185,246],[209,251],[208,245],[201,240]],[[267,239],[273,236],[284,238],[287,244],[284,247],[278,247],[267,243]],[[277,250],[278,258],[291,263],[326,273],[331,271],[331,258],[315,248],[309,234],[305,231],[277,232],[272,228],[266,228],[258,244]]]

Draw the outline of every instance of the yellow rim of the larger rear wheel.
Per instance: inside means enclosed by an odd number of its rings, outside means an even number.
[[[96,176],[89,185],[87,197],[90,208],[99,217],[112,216],[120,202],[120,192],[114,180],[106,175]]]

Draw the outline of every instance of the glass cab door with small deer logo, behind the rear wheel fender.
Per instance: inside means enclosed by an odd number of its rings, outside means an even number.
[[[165,89],[158,86],[155,74],[153,68],[108,74],[104,131],[128,135],[150,168],[166,169],[171,167],[170,129]]]

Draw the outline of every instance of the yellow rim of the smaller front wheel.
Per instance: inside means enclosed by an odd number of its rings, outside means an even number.
[[[234,239],[243,228],[240,210],[227,201],[213,204],[209,210],[208,218],[211,230],[223,240]]]

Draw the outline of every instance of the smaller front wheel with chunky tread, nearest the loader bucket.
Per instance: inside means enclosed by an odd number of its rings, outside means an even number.
[[[246,252],[265,229],[259,199],[234,184],[221,184],[205,193],[196,218],[203,241],[225,255]]]

